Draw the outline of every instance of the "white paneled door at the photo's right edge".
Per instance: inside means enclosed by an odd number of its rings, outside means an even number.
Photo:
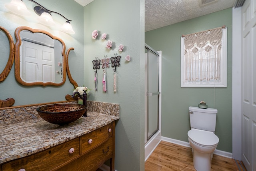
[[[242,7],[242,161],[256,171],[256,0]]]

